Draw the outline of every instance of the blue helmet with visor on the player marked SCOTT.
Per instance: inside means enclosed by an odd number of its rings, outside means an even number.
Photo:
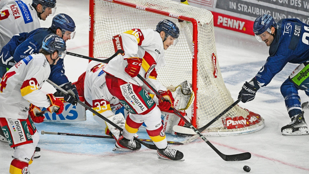
[[[255,36],[258,36],[265,31],[269,32],[271,34],[271,27],[276,28],[277,23],[273,19],[271,15],[260,15],[257,17],[253,23],[253,32]],[[259,39],[258,39],[259,40]],[[260,40],[259,40],[260,41]]]

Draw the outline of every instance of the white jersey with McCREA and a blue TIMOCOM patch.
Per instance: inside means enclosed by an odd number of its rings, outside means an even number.
[[[0,50],[15,34],[36,28],[40,28],[40,21],[30,3],[0,0]]]

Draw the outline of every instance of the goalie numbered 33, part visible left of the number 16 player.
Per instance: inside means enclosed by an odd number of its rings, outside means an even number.
[[[105,63],[91,61],[86,72],[73,85],[78,89],[78,95],[84,96],[87,105],[124,129],[125,117],[120,112],[123,111],[123,105],[106,87],[104,66],[106,66]],[[93,118],[105,127],[105,134],[112,134],[116,140],[119,138],[120,131],[118,129],[95,114],[93,114]]]

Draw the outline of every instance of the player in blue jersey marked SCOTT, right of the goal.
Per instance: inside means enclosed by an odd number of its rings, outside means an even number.
[[[256,91],[266,86],[288,63],[300,64],[281,85],[290,124],[281,128],[282,135],[308,135],[298,90],[309,96],[309,25],[298,19],[281,19],[276,23],[270,15],[260,15],[253,24],[260,42],[269,46],[269,57],[256,76],[243,84],[238,98],[254,99]],[[307,83],[308,82],[308,83]]]

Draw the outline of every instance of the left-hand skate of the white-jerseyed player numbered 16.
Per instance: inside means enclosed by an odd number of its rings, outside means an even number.
[[[128,140],[120,134],[113,151],[137,151],[141,148],[141,146],[141,143],[136,142],[133,138]]]

